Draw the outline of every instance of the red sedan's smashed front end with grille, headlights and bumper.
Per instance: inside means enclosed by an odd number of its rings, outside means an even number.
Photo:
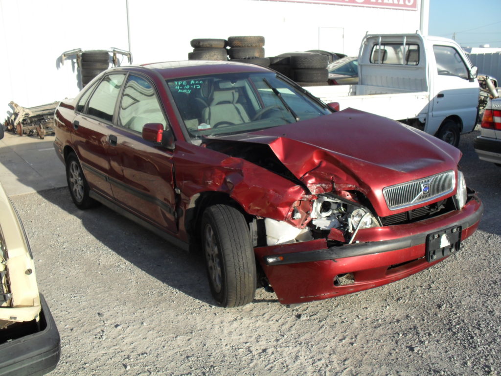
[[[478,227],[483,205],[460,171],[383,190],[378,216],[357,191],[298,202],[289,221],[263,219],[266,246],[255,252],[282,304],[349,294],[394,282],[457,252]]]

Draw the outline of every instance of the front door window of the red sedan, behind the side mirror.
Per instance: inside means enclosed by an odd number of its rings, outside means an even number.
[[[145,79],[130,75],[120,103],[119,125],[142,132],[146,123],[160,123],[166,129],[167,121],[155,95]]]

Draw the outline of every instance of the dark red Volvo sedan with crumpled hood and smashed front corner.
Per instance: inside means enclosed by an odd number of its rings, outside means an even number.
[[[224,307],[257,286],[293,304],[405,278],[457,252],[483,212],[455,147],[256,65],[111,69],[55,119],[76,206],[203,250]]]

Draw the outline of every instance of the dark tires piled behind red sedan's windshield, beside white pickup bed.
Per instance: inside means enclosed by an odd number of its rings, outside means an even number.
[[[326,55],[288,53],[271,58],[270,68],[296,81],[301,86],[324,86],[329,79]]]

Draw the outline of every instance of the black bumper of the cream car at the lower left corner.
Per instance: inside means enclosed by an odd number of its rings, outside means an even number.
[[[0,344],[0,375],[39,376],[56,368],[61,342],[51,311],[40,294],[40,331]]]

